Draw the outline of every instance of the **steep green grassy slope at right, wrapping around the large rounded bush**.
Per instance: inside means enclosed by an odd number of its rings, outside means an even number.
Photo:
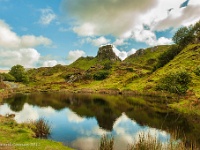
[[[160,78],[169,72],[186,70],[192,77],[189,90],[179,103],[170,106],[183,113],[200,115],[200,77],[196,76],[194,70],[200,65],[200,44],[188,45],[173,60],[153,74],[135,80],[129,84],[130,89],[141,91],[155,91],[155,86]]]

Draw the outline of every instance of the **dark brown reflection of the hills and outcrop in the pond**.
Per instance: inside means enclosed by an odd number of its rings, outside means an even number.
[[[182,115],[166,107],[172,101],[161,97],[61,92],[17,94],[3,102],[16,113],[22,111],[25,104],[41,108],[52,107],[58,112],[68,108],[82,118],[95,118],[99,127],[106,131],[112,131],[115,121],[126,114],[142,127],[148,126],[169,133],[178,130],[178,136],[186,139],[188,144],[195,142],[200,145],[200,118]]]

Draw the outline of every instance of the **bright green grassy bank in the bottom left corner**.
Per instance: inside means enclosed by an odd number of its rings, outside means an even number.
[[[29,146],[6,146],[8,150],[71,150],[59,142],[33,138],[26,124],[17,124],[13,119],[0,116],[0,144],[28,144]],[[33,145],[32,145],[33,144]],[[34,144],[37,144],[35,146]]]

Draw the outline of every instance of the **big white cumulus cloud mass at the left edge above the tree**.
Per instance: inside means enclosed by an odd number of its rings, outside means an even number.
[[[0,20],[0,60],[1,67],[10,68],[21,64],[27,68],[34,67],[40,53],[34,48],[39,45],[51,45],[51,40],[43,36],[18,36],[12,28]]]

